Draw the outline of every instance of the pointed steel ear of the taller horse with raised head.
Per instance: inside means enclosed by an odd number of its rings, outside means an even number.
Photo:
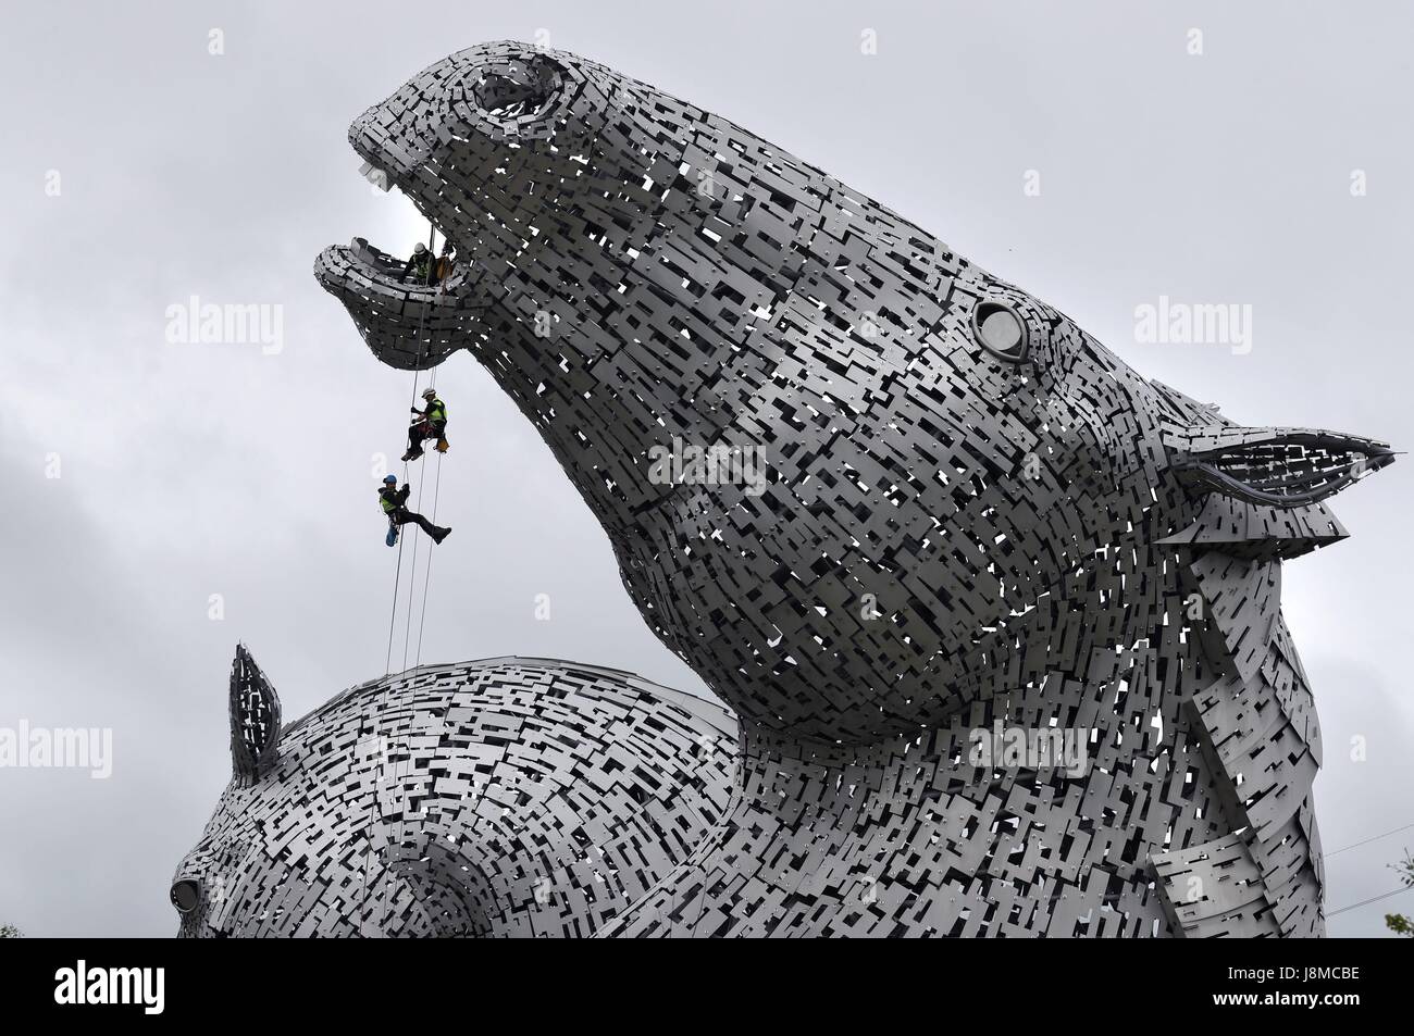
[[[1318,503],[1394,461],[1384,442],[1319,428],[1200,425],[1165,441],[1192,492],[1281,509]]]

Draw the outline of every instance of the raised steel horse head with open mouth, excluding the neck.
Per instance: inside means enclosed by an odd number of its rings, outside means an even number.
[[[379,360],[491,372],[645,620],[766,729],[896,736],[1152,636],[1179,568],[1339,538],[1325,499],[1391,459],[1234,424],[864,194],[571,54],[461,51],[349,141],[460,267],[410,287],[355,239],[320,281]]]

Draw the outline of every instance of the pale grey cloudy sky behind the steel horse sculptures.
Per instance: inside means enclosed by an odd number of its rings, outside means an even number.
[[[829,170],[1237,421],[1408,447],[1411,31],[1393,4],[1290,0],[10,7],[0,728],[106,728],[113,758],[106,780],[0,769],[0,923],[175,930],[173,868],[229,777],[238,639],[288,718],[383,673],[395,551],[370,472],[402,448],[410,376],[310,270],[354,235],[426,237],[345,140],[423,66],[498,38],[602,61]],[[1164,295],[1250,305],[1250,351],[1137,341],[1135,307]],[[168,341],[192,297],[270,307],[279,341]],[[458,356],[438,387],[457,534],[423,660],[551,656],[701,690],[489,376]],[[1328,852],[1414,825],[1411,471],[1343,493],[1352,538],[1284,572]],[[1397,888],[1406,845],[1414,827],[1329,855],[1328,910]],[[1380,934],[1389,909],[1414,893],[1333,913],[1331,934]]]

